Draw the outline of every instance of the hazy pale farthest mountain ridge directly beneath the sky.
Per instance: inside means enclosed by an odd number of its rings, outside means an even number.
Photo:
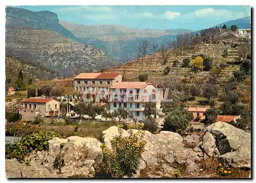
[[[177,35],[191,30],[170,29],[132,29],[121,25],[83,25],[67,21],[59,21],[67,30],[71,31],[77,38],[95,38],[102,41],[124,41],[138,38],[156,38],[164,35]]]

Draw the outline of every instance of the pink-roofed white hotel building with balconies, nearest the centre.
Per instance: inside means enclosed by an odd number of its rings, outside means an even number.
[[[163,91],[147,82],[120,82],[110,88],[110,111],[124,108],[128,112],[128,118],[145,120],[143,114],[146,102],[156,104],[159,112]]]

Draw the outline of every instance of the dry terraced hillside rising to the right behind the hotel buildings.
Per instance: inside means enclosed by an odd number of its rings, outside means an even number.
[[[201,89],[203,85],[207,83],[210,76],[210,71],[194,72],[191,68],[181,67],[182,61],[185,58],[191,60],[192,56],[204,54],[212,58],[212,70],[216,71],[219,96],[223,92],[223,86],[231,77],[233,77],[233,71],[239,69],[239,58],[241,58],[241,52],[243,52],[243,45],[239,45],[240,38],[236,33],[227,31],[221,33],[218,39],[214,43],[199,43],[195,45],[194,49],[185,50],[179,54],[174,54],[173,49],[168,49],[164,54],[167,56],[167,63],[163,65],[163,59],[161,52],[158,52],[152,56],[146,56],[126,64],[106,69],[106,72],[119,72],[123,75],[125,81],[139,81],[138,76],[142,73],[147,73],[147,81],[161,86],[165,82],[178,81],[180,79],[185,85],[197,85]],[[227,48],[227,56],[223,57],[224,50]],[[250,48],[246,51],[250,53]],[[178,67],[173,66],[173,61],[178,60]],[[223,64],[225,63],[225,66]],[[163,75],[165,67],[170,67],[168,75]],[[202,90],[201,90],[202,91]],[[196,100],[186,101],[187,106],[201,106],[200,100],[203,100],[202,93]],[[220,100],[217,98],[216,106],[220,105]],[[203,105],[202,105],[203,106]]]

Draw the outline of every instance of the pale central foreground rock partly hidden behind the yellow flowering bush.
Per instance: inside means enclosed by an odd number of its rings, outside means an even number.
[[[136,133],[138,130],[133,129]],[[129,135],[129,130],[123,130],[123,135]],[[199,162],[202,160],[192,148],[184,147],[183,138],[178,133],[161,131],[153,135],[144,131],[146,140],[145,151],[142,153],[139,171],[151,169],[148,177],[174,177],[174,172],[183,168],[186,174],[194,175],[199,173]],[[112,134],[118,135],[118,128],[113,126],[103,131],[104,143],[110,144]],[[108,137],[108,138],[106,138]]]

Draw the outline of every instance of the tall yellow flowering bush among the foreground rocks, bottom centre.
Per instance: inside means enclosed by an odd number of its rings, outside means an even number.
[[[111,140],[112,150],[101,144],[103,151],[102,171],[111,177],[119,178],[132,176],[139,167],[141,154],[144,151],[146,141],[141,131],[143,124],[139,125],[139,131],[130,131],[129,137],[122,136],[122,124],[118,125],[118,136]]]

